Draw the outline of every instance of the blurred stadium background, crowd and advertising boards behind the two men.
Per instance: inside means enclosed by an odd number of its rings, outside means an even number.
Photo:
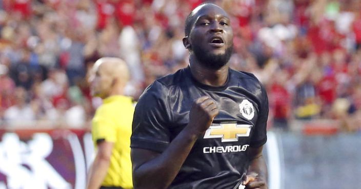
[[[137,100],[188,65],[184,20],[201,0],[0,0],[0,188],[85,187],[88,71],[125,59]],[[270,102],[270,189],[361,188],[361,2],[212,1],[231,16],[233,69]]]

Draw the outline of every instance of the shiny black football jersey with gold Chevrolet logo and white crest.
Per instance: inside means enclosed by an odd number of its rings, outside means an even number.
[[[250,73],[229,69],[222,87],[198,82],[189,67],[157,79],[136,105],[131,148],[166,150],[201,96],[211,97],[219,114],[198,137],[169,188],[234,188],[249,165],[247,148],[267,140],[267,94]]]

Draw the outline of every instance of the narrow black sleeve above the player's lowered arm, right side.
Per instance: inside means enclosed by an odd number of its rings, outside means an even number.
[[[258,148],[267,141],[267,120],[268,120],[268,96],[265,88],[260,84],[259,99],[259,115],[255,125],[254,133],[251,138],[250,146]]]

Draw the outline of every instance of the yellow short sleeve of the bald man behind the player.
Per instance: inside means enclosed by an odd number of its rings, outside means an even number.
[[[92,120],[92,135],[93,141],[105,140],[107,142],[116,141],[116,127],[115,122],[111,117],[111,113],[107,112],[105,107],[101,107],[96,111]]]

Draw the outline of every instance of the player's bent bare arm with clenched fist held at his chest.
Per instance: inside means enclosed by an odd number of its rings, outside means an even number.
[[[214,101],[208,96],[200,97],[192,104],[188,125],[163,152],[132,148],[134,188],[167,188],[181,169],[198,135],[209,128],[217,114]]]

